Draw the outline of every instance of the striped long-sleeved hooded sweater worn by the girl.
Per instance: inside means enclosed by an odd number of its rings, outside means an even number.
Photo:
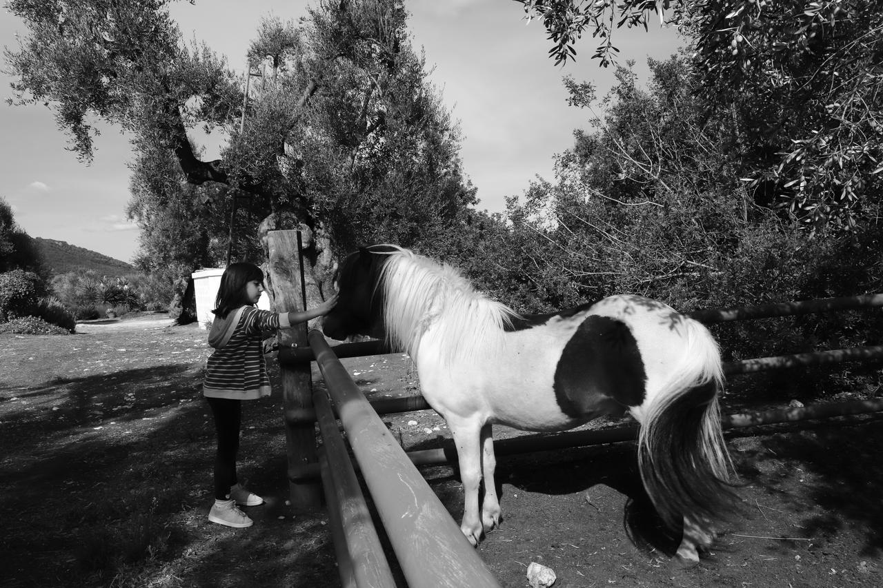
[[[254,306],[241,306],[226,319],[215,317],[208,333],[208,344],[215,352],[208,358],[202,394],[234,400],[269,396],[264,333],[290,326],[288,313],[271,313]]]

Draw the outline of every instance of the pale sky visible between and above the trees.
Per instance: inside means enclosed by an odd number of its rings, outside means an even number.
[[[298,19],[305,0],[196,0],[176,2],[170,13],[185,41],[205,41],[244,71],[245,50],[261,17]],[[613,68],[601,68],[591,55],[595,40],[577,44],[577,62],[555,66],[547,57],[550,41],[539,21],[527,23],[521,4],[509,0],[405,0],[415,48],[426,53],[430,81],[459,121],[460,157],[478,188],[479,209],[502,212],[505,198],[521,195],[535,177],[553,177],[555,154],[573,144],[576,129],[588,129],[589,114],[567,105],[566,75],[591,81],[599,97],[613,84]],[[0,13],[0,45],[17,49],[16,34],[26,27]],[[641,29],[619,29],[620,59],[634,59],[646,79],[646,58],[675,53],[682,40],[658,21]],[[0,67],[0,198],[31,237],[66,241],[131,261],[138,251],[138,227],[125,218],[129,200],[129,139],[104,126],[88,165],[67,150],[67,137],[55,115],[42,104],[11,106],[8,64]],[[195,137],[198,141],[204,137]],[[207,144],[206,157],[217,155]]]

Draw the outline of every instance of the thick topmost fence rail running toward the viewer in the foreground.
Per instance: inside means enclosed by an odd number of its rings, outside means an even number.
[[[309,342],[410,588],[498,588],[478,552],[367,403],[324,335],[314,330]]]

